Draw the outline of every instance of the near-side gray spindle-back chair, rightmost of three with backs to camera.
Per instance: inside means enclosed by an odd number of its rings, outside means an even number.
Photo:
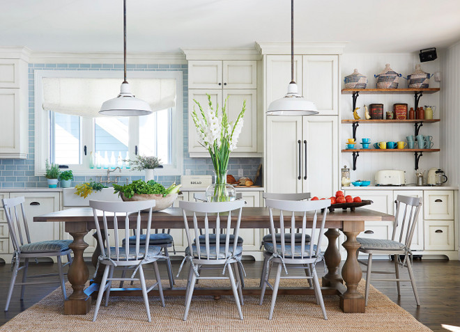
[[[316,303],[321,306],[321,310],[323,311],[324,319],[328,319],[323,295],[321,293],[321,287],[319,285],[318,275],[316,274],[316,263],[323,260],[323,255],[321,254],[321,240],[323,239],[323,230],[325,224],[325,218],[328,210],[326,207],[330,206],[330,200],[266,200],[266,206],[269,209],[270,213],[270,231],[272,235],[272,242],[266,242],[263,244],[265,251],[263,255],[268,257],[268,264],[267,269],[268,271],[265,274],[265,279],[263,280],[262,290],[261,290],[261,298],[259,304],[262,305],[263,297],[265,295],[266,287],[270,287],[273,290],[272,294],[272,303],[270,306],[270,314],[268,315],[268,319],[273,318],[273,310],[275,309],[275,302],[278,294],[278,287],[279,287],[279,280],[281,278],[289,278],[289,279],[311,279],[313,280],[313,288],[316,297]],[[275,221],[273,220],[273,210],[279,210],[279,240],[275,236]],[[324,209],[323,217],[321,221],[319,221],[319,225],[317,223],[318,219],[318,211]],[[312,228],[307,229],[307,220],[306,214],[309,211],[314,211],[313,223]],[[286,223],[284,222],[284,212],[286,213]],[[300,237],[301,241],[296,242],[296,237],[294,236],[296,233],[296,216],[295,213],[298,214],[298,218],[302,217],[302,228],[300,228]],[[301,213],[301,214],[300,214]],[[290,217],[289,217],[290,214]],[[289,219],[288,219],[289,218]],[[289,232],[285,232],[285,230],[289,230]],[[315,239],[316,232],[319,232],[318,239],[315,244],[313,244],[313,239]],[[310,235],[310,239],[312,241],[309,244],[305,243],[305,238]],[[286,234],[288,234],[288,241],[286,241]],[[277,264],[277,274],[275,278],[275,284],[270,285],[268,283],[268,276],[270,275],[270,262],[273,264]],[[298,269],[308,269],[312,272],[312,275],[309,276],[306,274],[305,276],[281,276],[282,268],[286,275],[288,274],[287,267],[290,268],[298,268]]]

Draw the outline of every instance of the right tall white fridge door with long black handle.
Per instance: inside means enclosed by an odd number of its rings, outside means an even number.
[[[337,116],[302,118],[303,191],[330,197],[339,188]]]

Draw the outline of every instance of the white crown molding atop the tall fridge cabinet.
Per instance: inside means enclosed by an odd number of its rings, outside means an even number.
[[[295,54],[342,54],[346,42],[295,42]],[[262,54],[291,54],[290,42],[256,42],[257,51]]]

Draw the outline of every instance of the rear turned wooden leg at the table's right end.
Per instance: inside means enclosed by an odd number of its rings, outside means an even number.
[[[324,235],[328,238],[328,248],[324,253],[324,262],[328,267],[328,273],[323,276],[323,287],[337,287],[343,283],[339,274],[340,252],[337,248],[337,238],[340,235],[337,228],[329,228]]]

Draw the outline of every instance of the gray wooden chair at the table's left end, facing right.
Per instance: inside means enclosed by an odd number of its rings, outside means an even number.
[[[10,239],[13,243],[13,261],[11,264],[14,265],[13,276],[11,276],[10,289],[6,297],[5,311],[8,311],[10,306],[11,295],[13,294],[13,288],[15,285],[21,285],[21,300],[24,299],[25,285],[38,285],[44,283],[56,283],[56,280],[43,280],[43,281],[29,281],[27,282],[27,269],[29,267],[29,260],[31,258],[39,257],[50,257],[56,256],[59,274],[39,274],[35,276],[29,276],[29,278],[40,278],[47,276],[59,276],[61,283],[62,297],[66,300],[66,285],[64,281],[63,267],[72,262],[70,253],[72,252],[69,248],[69,244],[72,240],[50,240],[31,242],[29,235],[29,227],[27,226],[26,214],[24,212],[24,196],[16,198],[3,198],[3,209],[6,214],[6,221],[8,223],[8,229],[10,231]],[[67,263],[63,264],[61,256],[67,256]],[[20,260],[24,259],[24,264],[20,267]],[[15,283],[17,273],[22,270],[22,282]]]

